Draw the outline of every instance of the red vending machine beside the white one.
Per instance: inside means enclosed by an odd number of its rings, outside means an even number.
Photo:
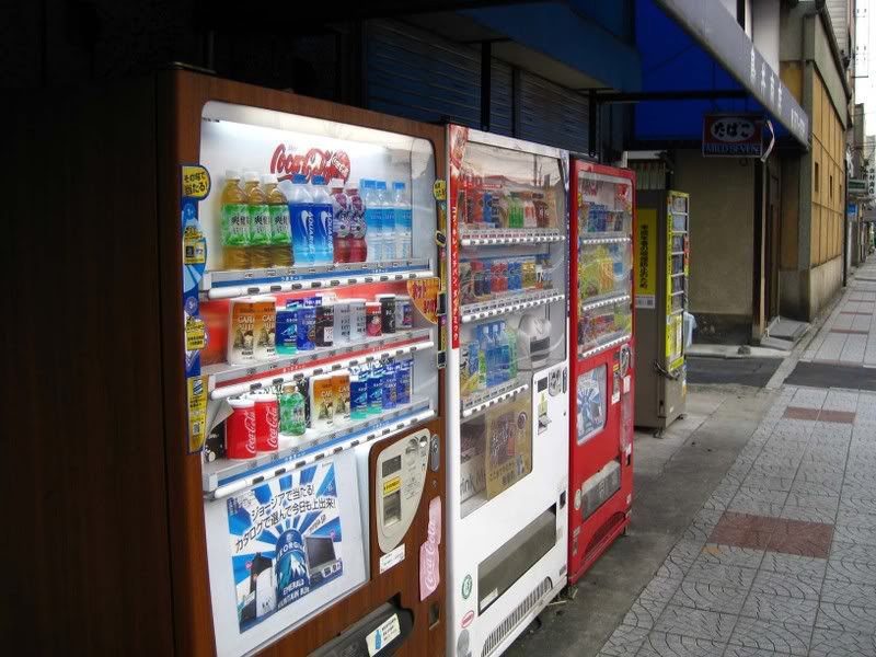
[[[635,177],[577,159],[570,170],[569,291],[577,344],[570,358],[568,578],[574,584],[630,522]]]

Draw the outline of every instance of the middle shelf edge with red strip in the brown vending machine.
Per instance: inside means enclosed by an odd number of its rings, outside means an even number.
[[[388,338],[388,341],[383,343],[382,346],[378,346],[376,344],[380,341],[373,341],[373,345],[370,343],[365,343],[368,346],[364,348],[371,348],[372,350],[370,351],[364,351],[362,349],[356,347],[355,353],[350,353],[346,350],[347,347],[337,347],[322,349],[320,350],[322,356],[318,356],[315,358],[310,357],[311,354],[316,353],[315,350],[303,351],[301,355],[296,354],[295,356],[285,358],[284,360],[287,361],[288,365],[285,365],[281,368],[273,369],[273,373],[269,376],[250,379],[241,383],[223,384],[223,382],[227,381],[238,380],[240,377],[247,377],[247,371],[250,369],[255,369],[258,366],[254,366],[253,368],[250,368],[249,366],[235,365],[215,366],[217,367],[217,371],[214,371],[212,373],[209,372],[209,368],[204,368],[205,373],[210,376],[208,381],[210,399],[223,400],[239,394],[254,392],[269,385],[283,385],[284,383],[296,381],[302,377],[312,377],[325,372],[337,371],[361,365],[364,362],[380,360],[383,357],[407,356],[408,354],[414,354],[415,351],[425,351],[426,349],[431,349],[435,346],[435,342],[431,338],[431,331],[428,328],[405,332],[401,335],[406,337],[402,338],[397,337],[399,335],[399,333],[394,333],[392,336],[384,336]],[[318,362],[314,362],[314,360],[318,360]],[[275,362],[277,361],[272,360],[258,365],[270,366]],[[289,368],[295,369],[290,370]],[[278,369],[283,369],[284,371],[277,371]],[[272,370],[268,370],[268,372],[272,372]]]

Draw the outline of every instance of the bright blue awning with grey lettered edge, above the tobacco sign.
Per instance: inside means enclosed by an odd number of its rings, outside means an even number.
[[[721,2],[636,0],[635,34],[637,148],[699,141],[707,113],[753,112],[808,149],[806,112]]]

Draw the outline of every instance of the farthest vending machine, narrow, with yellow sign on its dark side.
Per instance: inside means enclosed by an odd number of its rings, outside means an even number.
[[[688,310],[690,198],[642,189],[636,212],[635,424],[658,433],[684,413],[684,312]]]

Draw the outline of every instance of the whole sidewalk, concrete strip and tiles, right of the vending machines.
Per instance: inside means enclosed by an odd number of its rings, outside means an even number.
[[[766,388],[637,434],[629,535],[509,654],[876,656],[874,307],[865,264]]]

